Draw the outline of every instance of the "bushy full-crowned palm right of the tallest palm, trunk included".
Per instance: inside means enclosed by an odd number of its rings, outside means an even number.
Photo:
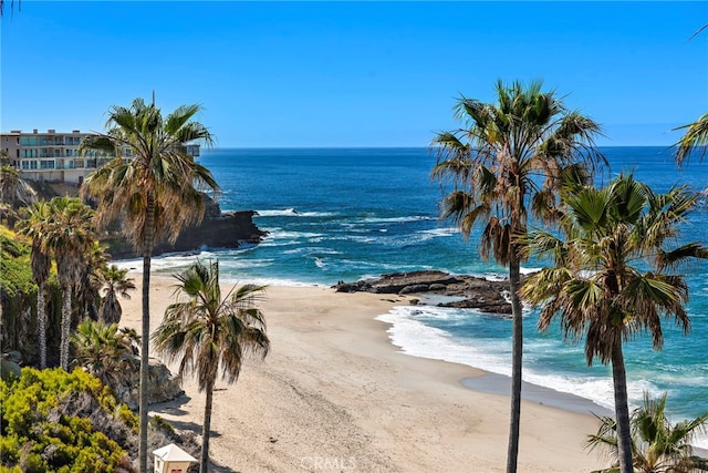
[[[620,175],[607,187],[563,194],[564,238],[534,230],[524,239],[529,255],[554,263],[530,276],[521,291],[543,305],[539,328],[545,330],[558,316],[566,338],[585,336],[587,364],[612,363],[622,473],[632,472],[622,343],[649,332],[654,349],[660,349],[663,316],[688,332],[688,288],[680,274],[668,271],[690,258],[708,258],[708,248],[697,243],[671,246],[696,198],[685,187],[655,194],[632,175]]]

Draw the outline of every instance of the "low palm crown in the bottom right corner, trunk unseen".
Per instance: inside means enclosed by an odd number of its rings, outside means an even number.
[[[617,459],[617,424],[611,417],[598,417],[596,434],[589,435],[587,446],[603,449],[610,457]],[[634,469],[639,473],[691,473],[708,471],[708,460],[694,455],[691,441],[697,432],[705,431],[708,412],[693,420],[671,424],[666,415],[666,393],[658,400],[644,394],[644,405],[629,417]],[[594,473],[614,473],[620,465]]]

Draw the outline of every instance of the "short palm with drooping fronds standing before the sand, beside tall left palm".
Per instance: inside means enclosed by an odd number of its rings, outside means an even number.
[[[179,374],[196,373],[199,391],[206,391],[200,471],[207,473],[214,387],[219,367],[228,383],[238,380],[247,354],[264,358],[270,347],[266,319],[254,306],[262,286],[232,288],[222,298],[219,261],[195,263],[175,276],[183,300],[170,305],[153,336],[156,349],[173,362],[179,359]]]

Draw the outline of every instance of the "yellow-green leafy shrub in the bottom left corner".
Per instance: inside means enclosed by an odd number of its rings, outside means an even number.
[[[126,451],[107,436],[129,434],[116,414],[128,417],[92,376],[24,368],[19,379],[0,380],[0,472],[133,471]]]

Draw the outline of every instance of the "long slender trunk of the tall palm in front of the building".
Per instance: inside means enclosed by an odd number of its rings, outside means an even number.
[[[143,333],[140,340],[140,442],[138,457],[140,473],[147,472],[147,385],[149,382],[150,342],[150,263],[153,257],[153,234],[155,226],[155,198],[147,197],[145,239],[143,241]]]

